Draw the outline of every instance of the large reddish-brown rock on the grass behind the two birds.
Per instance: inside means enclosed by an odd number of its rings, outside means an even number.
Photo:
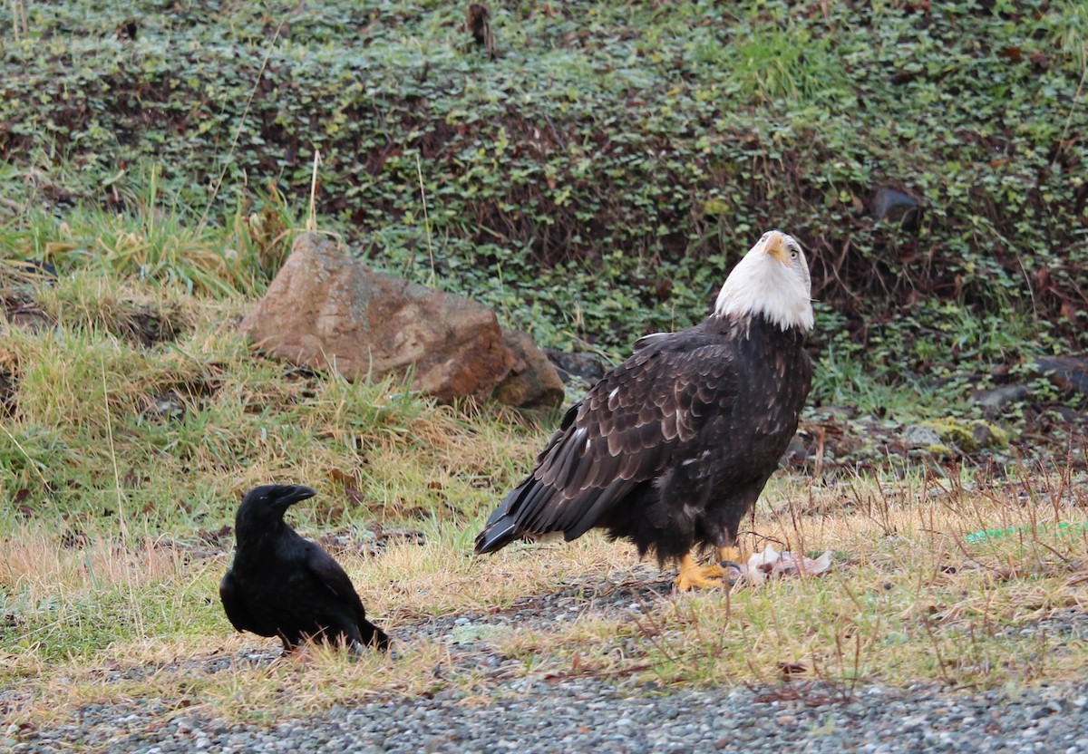
[[[490,396],[518,363],[491,309],[371,270],[309,233],[242,330],[273,356],[349,379],[412,369],[412,387],[443,401]]]

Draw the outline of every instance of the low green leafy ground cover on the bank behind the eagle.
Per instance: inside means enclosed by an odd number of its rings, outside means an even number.
[[[1084,345],[1079,3],[520,4],[494,61],[444,3],[29,10],[0,159],[55,222],[25,254],[104,206],[122,270],[252,291],[274,268],[203,231],[301,203],[320,150],[318,208],[363,254],[548,343],[687,324],[781,226],[863,354],[882,335],[857,325],[945,302]],[[880,186],[922,200],[916,228],[874,218]]]

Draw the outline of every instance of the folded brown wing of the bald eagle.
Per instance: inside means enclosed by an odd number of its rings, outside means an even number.
[[[707,420],[731,410],[734,362],[728,339],[702,327],[655,336],[571,407],[475,551],[526,533],[581,536],[636,485],[698,453],[694,441]]]

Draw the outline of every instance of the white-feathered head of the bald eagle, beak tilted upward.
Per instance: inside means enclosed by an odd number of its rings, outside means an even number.
[[[718,317],[763,314],[782,330],[813,326],[808,262],[793,236],[768,231],[744,255],[721,286],[714,305]]]

